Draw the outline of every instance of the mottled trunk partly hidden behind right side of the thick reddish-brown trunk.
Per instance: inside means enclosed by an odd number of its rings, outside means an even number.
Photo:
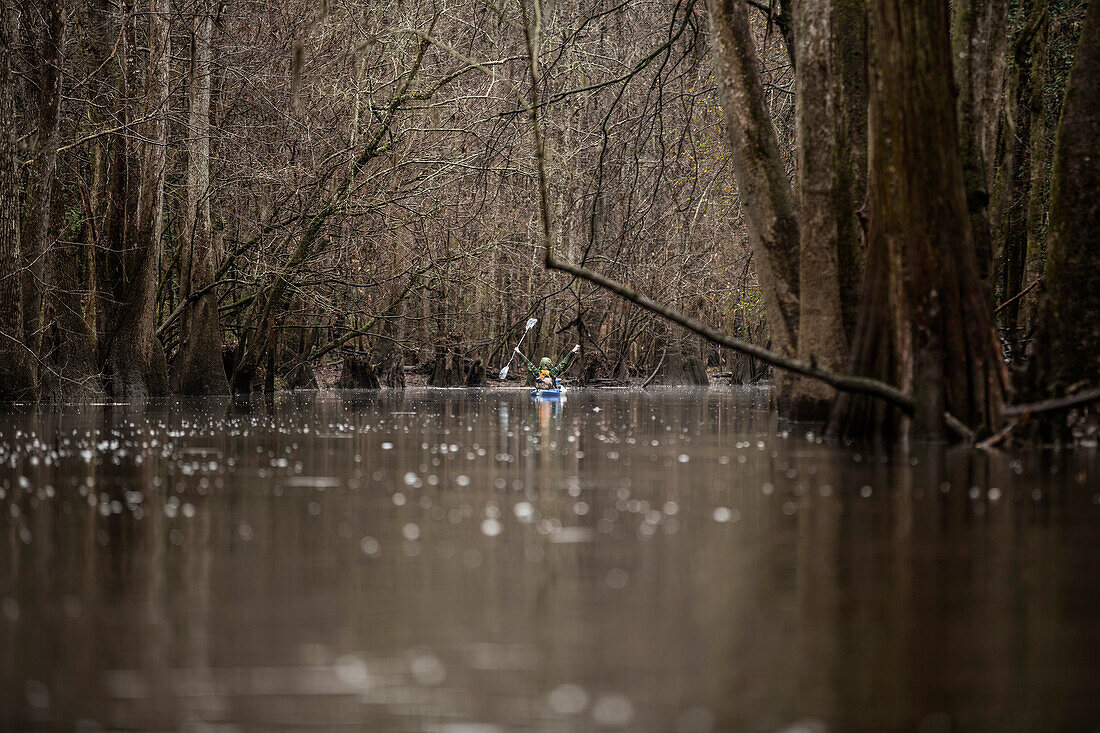
[[[978,273],[989,280],[993,237],[989,186],[1004,80],[1008,0],[957,0],[953,28],[955,84],[958,87],[959,142],[970,231]]]

